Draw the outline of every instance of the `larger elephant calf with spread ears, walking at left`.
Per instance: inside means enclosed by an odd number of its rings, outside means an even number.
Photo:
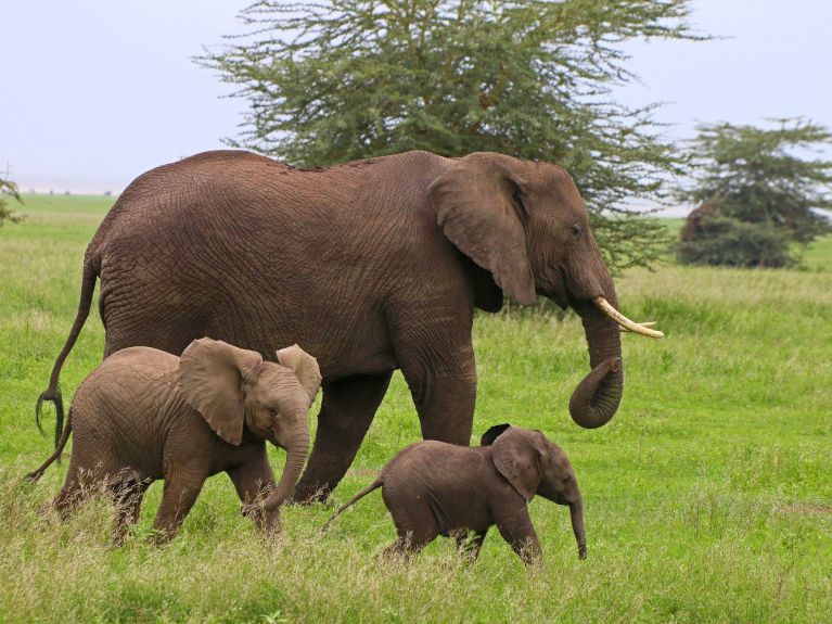
[[[309,451],[306,416],[321,374],[297,345],[277,355],[280,364],[266,362],[258,353],[207,338],[193,341],[181,358],[142,346],[119,351],[78,389],[57,449],[29,477],[43,474],[74,431],[66,482],[52,505],[64,515],[91,485],[103,484],[116,502],[115,544],[138,519],[153,481],[165,480],[153,524],[164,542],[179,530],[205,480],[222,471],[257,527],[278,532],[279,507]],[[287,451],[277,486],[265,440]]]

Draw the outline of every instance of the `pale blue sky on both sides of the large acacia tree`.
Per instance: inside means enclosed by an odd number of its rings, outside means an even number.
[[[221,147],[242,100],[191,62],[242,33],[249,0],[10,0],[0,34],[0,171],[21,189],[115,192],[156,165]],[[729,37],[632,42],[642,84],[628,104],[689,137],[697,122],[805,115],[832,126],[832,1],[693,0],[693,22]]]

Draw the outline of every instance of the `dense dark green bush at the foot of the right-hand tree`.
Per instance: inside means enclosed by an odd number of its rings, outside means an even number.
[[[688,265],[782,268],[793,264],[789,239],[771,224],[751,224],[715,214],[704,215],[679,242],[676,255]],[[691,231],[692,230],[692,231]],[[684,234],[684,232],[682,232]]]

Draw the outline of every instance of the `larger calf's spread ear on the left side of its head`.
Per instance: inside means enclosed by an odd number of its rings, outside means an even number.
[[[243,440],[241,386],[243,378],[260,362],[263,357],[256,352],[207,338],[193,341],[179,359],[182,396],[229,444]]]

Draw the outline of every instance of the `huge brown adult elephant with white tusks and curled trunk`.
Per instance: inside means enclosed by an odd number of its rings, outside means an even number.
[[[300,500],[343,477],[397,368],[423,437],[469,444],[474,308],[499,310],[503,293],[580,315],[591,372],[569,409],[585,428],[607,422],[622,398],[618,326],[661,335],[615,313],[572,178],[492,153],[304,170],[216,151],[140,176],[87,247],[75,324],[39,404],[60,403],[97,278],[105,356],[133,345],[179,355],[207,335],[266,359],[297,343],[318,359],[323,404]]]

